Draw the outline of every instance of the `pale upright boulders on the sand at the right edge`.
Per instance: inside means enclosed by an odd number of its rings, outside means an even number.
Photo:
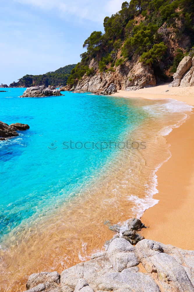
[[[169,87],[194,86],[194,57],[192,59],[190,56],[185,56],[179,63],[173,78]]]

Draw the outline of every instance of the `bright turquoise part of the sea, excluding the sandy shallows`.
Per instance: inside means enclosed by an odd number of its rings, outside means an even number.
[[[47,215],[89,187],[120,151],[114,147],[63,149],[69,145],[63,145],[64,141],[88,141],[87,148],[91,142],[122,141],[146,118],[126,98],[69,92],[19,98],[25,88],[5,90],[0,93],[0,120],[29,124],[30,129],[0,141],[1,237],[33,216]]]

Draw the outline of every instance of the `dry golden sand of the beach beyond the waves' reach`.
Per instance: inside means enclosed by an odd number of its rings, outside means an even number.
[[[166,90],[169,90],[165,92]],[[168,87],[167,84],[137,91],[120,91],[117,96],[147,99],[172,98],[194,106],[194,87]],[[142,222],[147,239],[194,249],[194,115],[166,136],[172,156],[157,171],[159,202],[146,210]]]

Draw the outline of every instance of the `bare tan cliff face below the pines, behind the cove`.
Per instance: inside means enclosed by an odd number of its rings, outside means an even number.
[[[99,72],[98,63],[94,59],[90,62],[89,68],[91,67],[96,70],[96,74],[90,76],[85,74],[77,85],[72,88],[67,86],[66,90],[107,95],[117,90],[130,91],[156,85],[156,78],[151,67],[143,65],[136,59],[114,67],[113,72]]]

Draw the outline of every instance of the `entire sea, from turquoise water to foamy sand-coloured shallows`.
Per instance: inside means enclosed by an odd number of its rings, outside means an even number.
[[[163,136],[191,110],[173,100],[67,92],[19,98],[23,91],[0,95],[1,120],[30,126],[0,142],[0,291],[25,290],[33,272],[87,260],[113,235],[105,220],[123,224],[156,204],[155,172],[170,157]],[[117,149],[63,149],[70,140],[87,148],[110,140]]]

